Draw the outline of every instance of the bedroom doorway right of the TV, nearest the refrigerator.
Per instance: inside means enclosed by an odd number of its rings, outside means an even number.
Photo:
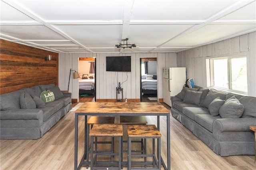
[[[140,101],[157,102],[157,59],[140,58]]]

